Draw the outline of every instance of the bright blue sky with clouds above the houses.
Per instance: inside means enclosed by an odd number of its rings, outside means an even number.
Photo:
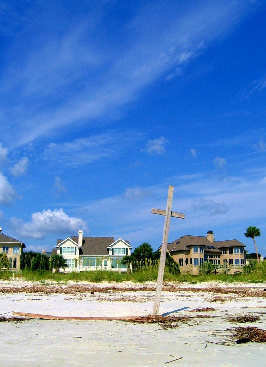
[[[266,255],[264,1],[0,1],[0,224],[47,251],[238,239]]]

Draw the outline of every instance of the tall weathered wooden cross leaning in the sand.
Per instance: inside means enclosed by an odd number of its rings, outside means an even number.
[[[164,267],[165,267],[165,259],[166,259],[167,243],[168,243],[170,218],[171,217],[182,218],[182,219],[185,218],[185,214],[172,211],[173,193],[174,193],[174,186],[169,185],[166,210],[153,209],[153,208],[151,209],[152,214],[165,215],[164,233],[162,236],[161,257],[160,257],[159,271],[158,271],[158,277],[157,277],[156,293],[155,293],[155,300],[154,300],[154,306],[153,306],[153,315],[159,314],[161,292],[162,292],[162,282],[164,280]]]

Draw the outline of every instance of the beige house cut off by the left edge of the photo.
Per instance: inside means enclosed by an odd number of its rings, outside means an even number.
[[[5,252],[10,259],[10,270],[20,269],[20,257],[25,247],[24,242],[4,235],[2,228],[0,229],[0,253]]]

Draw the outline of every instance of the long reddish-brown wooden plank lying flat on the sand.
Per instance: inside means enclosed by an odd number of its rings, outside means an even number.
[[[34,317],[35,319],[44,320],[134,320],[138,319],[139,316],[53,316],[53,315],[42,315],[40,313],[27,313],[27,312],[13,312],[13,315]]]

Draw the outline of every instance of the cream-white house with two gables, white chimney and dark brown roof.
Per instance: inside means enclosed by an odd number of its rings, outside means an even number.
[[[66,272],[84,270],[127,271],[121,264],[125,255],[131,254],[129,241],[114,237],[87,237],[80,230],[78,236],[57,240],[56,252],[67,261]],[[55,253],[55,250],[53,250]],[[63,271],[61,269],[60,271]]]

